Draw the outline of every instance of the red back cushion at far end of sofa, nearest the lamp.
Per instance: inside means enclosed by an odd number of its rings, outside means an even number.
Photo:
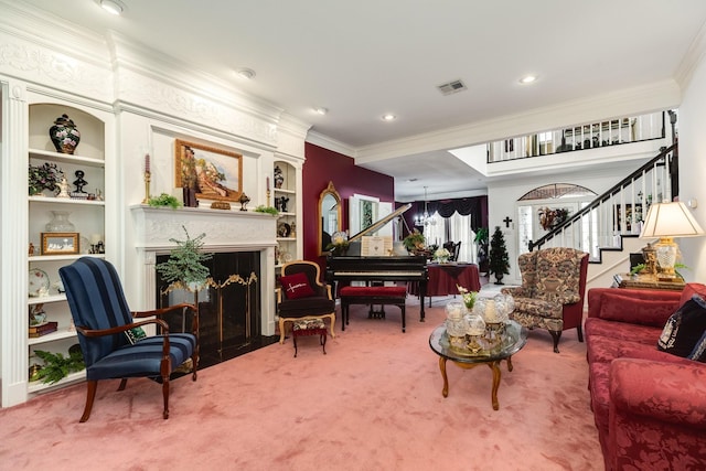
[[[600,318],[611,321],[630,322],[641,325],[664,327],[666,320],[674,313],[668,303],[657,300],[640,300],[633,297],[607,292],[600,306]]]

